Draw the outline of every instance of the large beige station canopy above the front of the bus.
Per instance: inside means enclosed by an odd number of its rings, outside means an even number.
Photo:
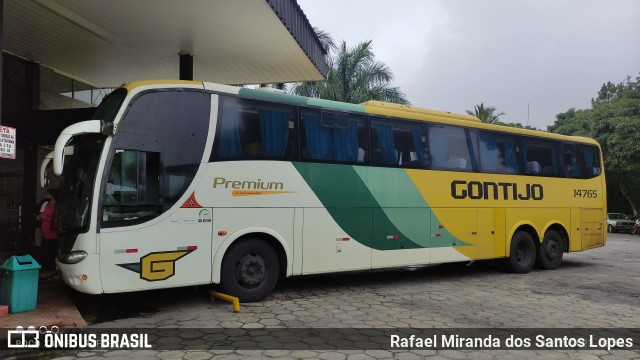
[[[5,51],[96,87],[193,78],[322,80],[324,50],[295,0],[4,0]]]

